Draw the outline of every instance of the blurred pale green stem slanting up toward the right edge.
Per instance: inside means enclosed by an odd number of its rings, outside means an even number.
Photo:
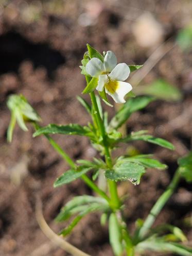
[[[176,170],[174,173],[173,179],[171,183],[168,185],[167,189],[165,192],[160,196],[158,201],[154,204],[153,208],[151,209],[148,217],[146,218],[144,225],[138,232],[138,240],[141,241],[144,236],[148,233],[149,229],[153,225],[156,217],[159,215],[161,212],[162,208],[165,206],[165,203],[168,201],[170,196],[173,194],[174,190],[176,189],[178,183],[180,180],[180,173],[179,173],[179,168]]]

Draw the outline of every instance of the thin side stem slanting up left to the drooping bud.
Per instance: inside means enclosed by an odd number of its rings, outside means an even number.
[[[40,129],[40,126],[37,123],[34,122],[33,124],[36,130]],[[46,139],[50,142],[51,146],[53,146],[53,148],[59,153],[59,155],[62,156],[62,158],[68,163],[68,165],[71,166],[72,168],[76,168],[77,166],[74,163],[74,161],[67,155],[67,153],[65,153],[65,151],[57,144],[57,142],[55,142],[49,135],[47,134],[44,134],[44,135]],[[106,195],[106,193],[100,190],[99,187],[96,186],[95,183],[88,176],[83,174],[81,176],[81,179],[101,197],[106,199],[108,202],[111,201],[110,198]]]

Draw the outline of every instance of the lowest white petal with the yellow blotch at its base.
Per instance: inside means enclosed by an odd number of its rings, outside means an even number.
[[[125,103],[125,95],[132,90],[132,86],[130,83],[122,82],[122,81],[116,81],[117,87],[116,91],[114,93],[111,93],[107,90],[106,92],[114,99],[116,103]]]

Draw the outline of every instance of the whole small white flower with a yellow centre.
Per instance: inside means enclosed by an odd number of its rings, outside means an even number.
[[[130,83],[124,82],[130,69],[126,63],[117,64],[116,56],[110,50],[104,56],[104,62],[98,58],[92,58],[86,64],[86,72],[98,78],[97,90],[106,92],[115,100],[116,103],[125,103],[125,95],[132,90]]]

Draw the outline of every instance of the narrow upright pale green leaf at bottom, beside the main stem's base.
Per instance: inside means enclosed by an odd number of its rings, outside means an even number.
[[[109,217],[109,240],[116,256],[123,254],[121,228],[119,226],[115,213],[111,213]]]

